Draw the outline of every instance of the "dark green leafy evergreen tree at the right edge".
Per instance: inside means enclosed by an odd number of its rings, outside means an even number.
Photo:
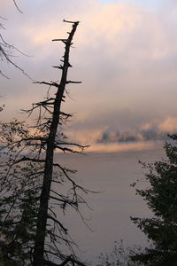
[[[154,214],[150,218],[131,217],[152,242],[133,257],[145,265],[177,265],[177,136],[170,137],[171,141],[165,144],[166,159],[143,164],[149,170],[149,185],[136,190]]]

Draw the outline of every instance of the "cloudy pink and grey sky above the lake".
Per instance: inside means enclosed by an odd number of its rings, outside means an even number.
[[[73,113],[66,127],[69,137],[103,148],[108,143],[139,145],[175,132],[176,1],[19,0],[17,4],[22,14],[12,1],[1,1],[1,15],[8,19],[2,21],[1,34],[27,54],[15,52],[12,59],[33,80],[58,80],[51,66],[63,55],[63,46],[51,39],[70,30],[64,18],[81,21],[69,79],[82,83],[68,87],[64,106]],[[26,120],[20,109],[44,98],[48,88],[4,62],[1,65],[10,77],[0,77],[2,116]]]

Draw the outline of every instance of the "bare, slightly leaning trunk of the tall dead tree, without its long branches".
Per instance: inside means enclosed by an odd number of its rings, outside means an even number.
[[[63,100],[65,85],[69,83],[67,81],[67,71],[70,66],[69,63],[69,52],[72,45],[73,35],[76,31],[76,28],[79,22],[65,21],[73,23],[72,31],[69,33],[67,39],[56,39],[53,41],[61,41],[65,43],[65,55],[63,60],[63,66],[58,66],[62,69],[61,81],[59,84],[53,83],[53,86],[57,87],[56,98],[53,104],[53,113],[50,122],[50,131],[49,137],[47,139],[47,149],[46,149],[46,158],[45,158],[45,167],[44,167],[44,176],[42,183],[42,192],[40,197],[40,207],[37,217],[36,225],[36,235],[35,235],[35,249],[34,249],[34,262],[33,266],[43,266],[45,265],[44,260],[44,244],[45,244],[45,234],[46,226],[48,219],[48,207],[50,199],[50,186],[52,181],[52,172],[53,172],[53,156],[55,149],[55,138],[58,130],[58,123],[60,120],[60,107]],[[52,85],[52,84],[51,84]]]

